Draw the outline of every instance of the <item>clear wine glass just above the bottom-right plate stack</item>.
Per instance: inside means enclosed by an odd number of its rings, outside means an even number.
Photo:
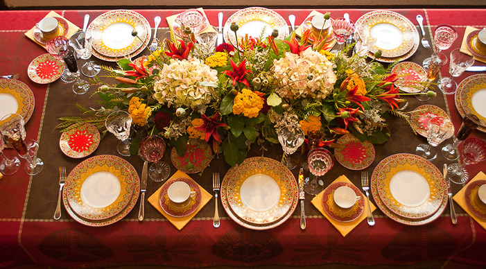
[[[435,116],[430,119],[427,128],[428,144],[419,144],[415,149],[415,153],[428,161],[432,161],[437,157],[437,152],[434,147],[451,137],[453,129],[451,128],[451,121],[442,118],[442,116]]]

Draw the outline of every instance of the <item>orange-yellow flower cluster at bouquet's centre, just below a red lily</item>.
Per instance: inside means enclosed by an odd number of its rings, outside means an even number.
[[[242,89],[234,98],[233,114],[235,115],[243,114],[248,118],[254,118],[262,108],[263,99],[250,89]]]

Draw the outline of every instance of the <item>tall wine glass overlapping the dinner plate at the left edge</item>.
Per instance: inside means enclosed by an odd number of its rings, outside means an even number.
[[[27,160],[24,170],[28,175],[37,175],[44,168],[44,162],[40,158],[29,154],[29,146],[24,137],[26,137],[26,130],[24,128],[24,118],[19,114],[8,114],[0,119],[0,132],[3,134],[3,139],[10,144],[20,157]]]

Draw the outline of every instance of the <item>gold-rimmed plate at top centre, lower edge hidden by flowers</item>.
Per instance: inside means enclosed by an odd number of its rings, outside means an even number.
[[[288,35],[288,24],[283,17],[277,12],[269,10],[268,8],[245,8],[236,11],[225,23],[223,28],[223,36],[226,42],[231,42],[236,46],[236,37],[234,32],[229,28],[232,23],[236,23],[240,28],[236,33],[238,34],[238,43],[245,35],[250,37],[268,37],[272,34],[273,30],[278,30],[279,35],[277,38],[284,39]],[[263,31],[265,28],[265,31]],[[263,35],[262,35],[263,31]],[[241,44],[241,43],[240,43]]]

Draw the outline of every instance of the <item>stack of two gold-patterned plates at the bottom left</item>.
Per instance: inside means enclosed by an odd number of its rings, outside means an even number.
[[[139,198],[137,171],[125,159],[98,155],[85,159],[69,173],[62,200],[78,223],[99,227],[124,218]]]

